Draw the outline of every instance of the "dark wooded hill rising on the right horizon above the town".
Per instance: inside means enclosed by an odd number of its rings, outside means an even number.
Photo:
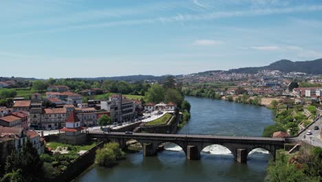
[[[257,73],[259,70],[279,70],[281,72],[305,72],[307,74],[322,74],[322,59],[316,59],[314,61],[290,61],[280,60],[275,63],[271,63],[262,67],[249,67],[228,70],[228,72],[235,73]]]

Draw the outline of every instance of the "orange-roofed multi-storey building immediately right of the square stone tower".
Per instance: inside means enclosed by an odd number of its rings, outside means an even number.
[[[65,127],[67,111],[65,108],[47,108],[41,114],[41,128],[54,130]]]

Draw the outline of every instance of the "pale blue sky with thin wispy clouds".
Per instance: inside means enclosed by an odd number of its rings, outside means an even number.
[[[189,74],[319,58],[321,0],[0,1],[0,77]]]

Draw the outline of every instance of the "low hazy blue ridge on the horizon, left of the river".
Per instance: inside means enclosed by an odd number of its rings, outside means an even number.
[[[156,80],[156,81],[162,81],[167,76],[153,76],[153,75],[130,75],[130,76],[120,76],[120,77],[97,77],[97,78],[82,78],[87,80],[94,80],[94,81],[100,81],[100,80],[114,80],[114,81],[144,81],[144,80]]]

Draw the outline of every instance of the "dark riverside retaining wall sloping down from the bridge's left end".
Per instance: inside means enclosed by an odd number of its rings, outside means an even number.
[[[77,176],[81,175],[89,166],[91,166],[95,161],[96,150],[98,148],[103,147],[104,143],[98,143],[94,148],[87,151],[82,156],[79,156],[75,159],[74,163],[71,163],[67,170],[61,174],[61,176],[56,177],[56,179],[52,180],[54,182],[62,182],[62,181],[72,181]]]

